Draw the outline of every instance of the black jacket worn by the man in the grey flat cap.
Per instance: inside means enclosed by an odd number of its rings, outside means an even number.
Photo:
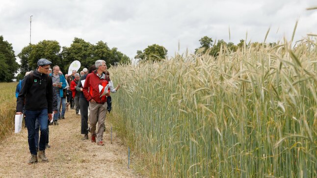
[[[17,112],[23,112],[24,101],[26,110],[48,109],[48,113],[52,113],[52,77],[41,74],[37,70],[33,71],[33,81],[31,81],[31,74],[27,75],[17,98]]]

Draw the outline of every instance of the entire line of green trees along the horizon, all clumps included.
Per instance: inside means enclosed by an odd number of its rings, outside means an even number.
[[[195,49],[195,54],[208,53],[214,57],[218,56],[221,46],[226,46],[230,51],[237,51],[244,45],[252,46],[275,46],[276,43],[249,43],[245,44],[244,40],[235,45],[232,42],[217,40],[213,42],[211,37],[204,36],[200,40],[200,47]],[[82,68],[88,68],[94,64],[96,60],[102,59],[106,61],[107,67],[116,65],[117,63],[131,63],[130,58],[118,51],[117,48],[110,49],[106,42],[99,41],[96,44],[91,44],[81,38],[75,37],[70,47],[61,47],[56,40],[43,40],[37,44],[28,44],[17,55],[21,59],[21,64],[16,62],[12,44],[4,41],[3,36],[0,36],[0,82],[10,82],[12,79],[22,79],[27,71],[34,70],[37,67],[37,60],[46,58],[52,61],[53,65],[58,65],[65,73],[68,72],[69,65],[78,60]],[[161,61],[167,58],[167,50],[165,47],[153,44],[145,48],[143,51],[137,50],[134,56],[139,62],[142,61]],[[19,71],[18,76],[15,74]]]

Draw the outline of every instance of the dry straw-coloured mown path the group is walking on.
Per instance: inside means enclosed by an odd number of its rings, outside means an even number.
[[[75,110],[70,109],[65,117],[66,119],[58,121],[58,126],[50,126],[51,148],[46,149],[48,163],[27,164],[30,153],[26,128],[1,141],[0,178],[139,177],[132,169],[127,168],[127,148],[115,133],[112,133],[113,140],[110,144],[110,126],[107,120],[105,146],[102,147],[90,140],[81,141],[80,115],[75,115]]]

